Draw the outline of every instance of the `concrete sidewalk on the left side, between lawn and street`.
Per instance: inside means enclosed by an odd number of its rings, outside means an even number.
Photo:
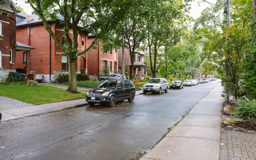
[[[143,91],[136,91],[136,95],[138,94],[143,94]],[[0,96],[0,104],[6,106],[1,106],[0,108],[0,112],[2,113],[1,121],[4,121],[18,119],[26,116],[33,116],[36,114],[43,114],[47,112],[54,112],[65,108],[84,106],[88,103],[86,102],[85,98],[82,98],[77,100],[67,100],[62,102],[33,105],[14,100],[12,98]],[[7,106],[9,106],[10,109],[8,109]]]

